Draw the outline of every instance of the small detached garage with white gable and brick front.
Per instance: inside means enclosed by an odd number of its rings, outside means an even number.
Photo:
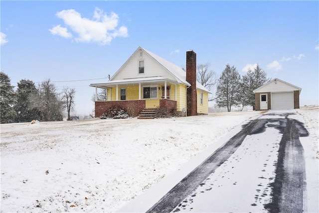
[[[298,109],[301,88],[275,78],[253,91],[256,110]]]

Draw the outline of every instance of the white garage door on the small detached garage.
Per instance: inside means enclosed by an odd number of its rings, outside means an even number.
[[[271,109],[294,109],[294,92],[271,93]]]

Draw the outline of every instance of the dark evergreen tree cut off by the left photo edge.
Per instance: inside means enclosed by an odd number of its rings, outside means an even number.
[[[4,72],[0,72],[0,123],[12,123],[16,113],[13,109],[15,97],[11,80]]]

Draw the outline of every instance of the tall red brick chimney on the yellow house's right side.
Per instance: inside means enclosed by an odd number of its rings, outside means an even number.
[[[186,115],[197,115],[196,53],[193,50],[186,52],[186,81],[191,85],[186,92]]]

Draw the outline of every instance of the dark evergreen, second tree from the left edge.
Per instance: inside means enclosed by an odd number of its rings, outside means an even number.
[[[37,94],[35,84],[31,80],[22,79],[18,82],[16,91],[16,105],[14,110],[17,114],[15,122],[30,122],[32,120],[40,120],[40,110],[31,103],[32,95]]]

